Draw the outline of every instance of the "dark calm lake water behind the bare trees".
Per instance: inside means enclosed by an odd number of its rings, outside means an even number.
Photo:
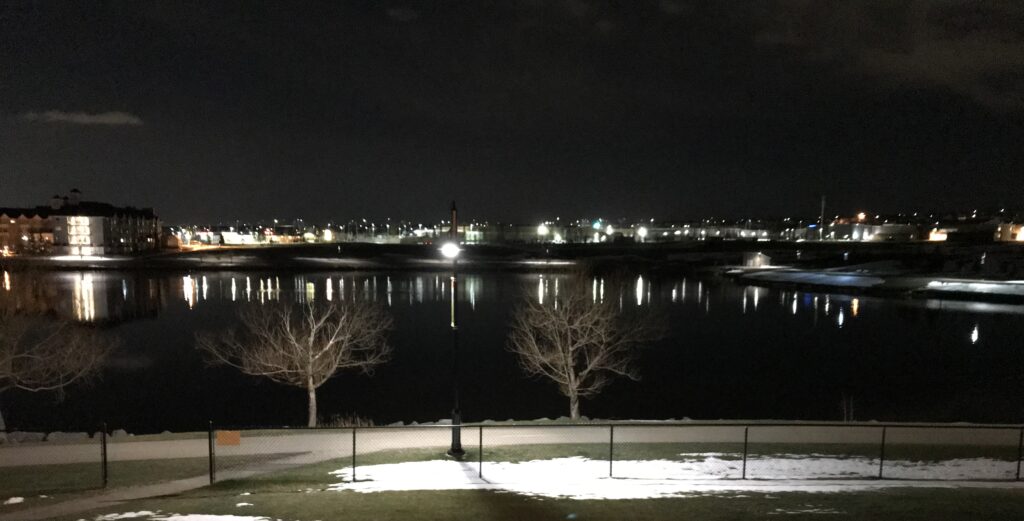
[[[52,394],[10,391],[12,427],[151,432],[302,424],[299,389],[210,367],[196,332],[246,302],[376,300],[393,314],[393,360],[371,378],[340,374],[322,416],[435,421],[451,407],[449,283],[442,273],[62,272],[3,274],[0,306],[92,320],[121,338],[100,380]],[[461,385],[467,421],[565,415],[554,385],[525,378],[504,349],[517,298],[553,298],[562,275],[461,275]],[[600,280],[594,280],[601,298]],[[330,291],[328,290],[330,288]],[[614,294],[612,294],[614,293]],[[1024,421],[1024,306],[854,298],[634,275],[605,299],[657,310],[671,324],[583,413],[609,419]]]

